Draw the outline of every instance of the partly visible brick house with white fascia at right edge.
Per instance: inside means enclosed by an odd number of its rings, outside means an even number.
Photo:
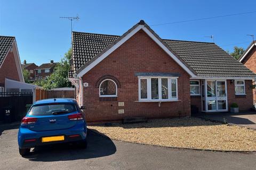
[[[252,41],[238,61],[243,63],[248,69],[256,73],[256,41]],[[255,85],[255,81],[253,82]],[[256,103],[256,90],[253,89],[253,102]]]

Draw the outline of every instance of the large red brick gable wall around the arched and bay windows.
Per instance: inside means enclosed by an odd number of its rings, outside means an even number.
[[[178,99],[161,103],[139,103],[138,78],[135,72],[172,72],[180,73],[178,79]],[[102,75],[114,75],[120,82],[117,101],[99,101],[99,88],[95,83]],[[84,88],[84,106],[87,121],[121,120],[129,116],[175,117],[190,115],[189,75],[167,55],[142,30],[135,33],[122,46],[83,76],[83,82],[89,83]],[[118,107],[118,101],[124,102]],[[118,114],[124,109],[124,114]]]

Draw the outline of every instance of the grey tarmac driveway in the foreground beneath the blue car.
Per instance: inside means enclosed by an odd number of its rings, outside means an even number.
[[[255,169],[256,153],[171,149],[112,141],[89,131],[88,148],[54,145],[18,153],[17,126],[0,125],[0,169]]]

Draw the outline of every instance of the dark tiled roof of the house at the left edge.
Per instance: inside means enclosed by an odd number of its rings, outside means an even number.
[[[15,37],[0,36],[0,66],[4,61],[4,57],[12,46]]]

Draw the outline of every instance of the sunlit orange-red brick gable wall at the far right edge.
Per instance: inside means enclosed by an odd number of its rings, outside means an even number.
[[[251,71],[256,73],[256,47],[254,46],[251,51],[244,58],[242,63]]]

